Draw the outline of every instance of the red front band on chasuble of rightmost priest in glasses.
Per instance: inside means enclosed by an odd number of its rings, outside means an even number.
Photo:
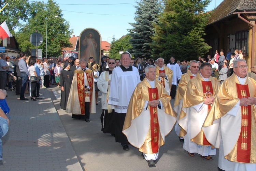
[[[250,97],[248,84],[236,84],[236,86],[238,98],[241,99]],[[241,132],[237,141],[237,161],[242,163],[250,163],[252,106],[241,106],[241,121]]]

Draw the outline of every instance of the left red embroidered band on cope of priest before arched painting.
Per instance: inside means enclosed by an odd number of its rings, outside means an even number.
[[[84,72],[76,73],[77,77],[77,91],[80,104],[81,114],[85,114],[85,100],[84,100]]]

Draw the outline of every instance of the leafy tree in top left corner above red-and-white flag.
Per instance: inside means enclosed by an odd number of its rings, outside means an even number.
[[[28,16],[28,0],[1,0],[0,9],[9,3],[0,13],[1,24],[6,20],[8,28],[12,30],[22,26],[22,22],[26,21]]]

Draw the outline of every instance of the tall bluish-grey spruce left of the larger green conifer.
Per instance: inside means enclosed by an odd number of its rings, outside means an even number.
[[[136,58],[150,58],[152,55],[152,36],[154,35],[153,25],[158,22],[158,15],[161,12],[159,0],[141,0],[135,6],[135,23],[129,23],[133,28],[129,29],[131,35],[131,53]]]

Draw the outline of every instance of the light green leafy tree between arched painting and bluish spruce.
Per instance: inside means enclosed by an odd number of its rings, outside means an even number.
[[[120,59],[119,51],[126,51],[132,48],[130,44],[131,36],[129,34],[125,35],[124,37],[116,40],[113,38],[111,42],[111,49],[109,50],[109,57],[113,59]]]

